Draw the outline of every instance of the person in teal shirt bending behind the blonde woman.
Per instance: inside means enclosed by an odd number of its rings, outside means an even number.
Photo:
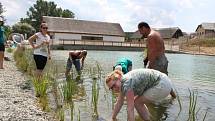
[[[126,74],[132,70],[132,61],[127,58],[120,58],[113,66],[113,70],[120,70]]]

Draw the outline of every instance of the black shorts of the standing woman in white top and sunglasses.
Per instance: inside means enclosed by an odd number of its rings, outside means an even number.
[[[34,61],[38,70],[43,70],[46,66],[47,57],[42,55],[34,55]]]

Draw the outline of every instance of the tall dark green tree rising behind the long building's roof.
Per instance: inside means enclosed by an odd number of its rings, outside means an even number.
[[[61,8],[57,8],[54,2],[37,0],[36,4],[27,11],[27,16],[27,18],[21,18],[20,21],[31,24],[38,31],[42,16],[74,18],[75,14],[68,9],[62,10]]]

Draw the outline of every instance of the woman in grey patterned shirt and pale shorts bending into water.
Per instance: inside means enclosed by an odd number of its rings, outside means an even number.
[[[150,120],[150,113],[146,103],[160,102],[169,94],[176,98],[172,82],[168,76],[153,69],[136,69],[123,75],[115,70],[106,78],[106,85],[113,92],[119,93],[112,113],[112,120],[116,120],[123,103],[127,101],[128,121],[134,121],[134,108],[144,121]]]

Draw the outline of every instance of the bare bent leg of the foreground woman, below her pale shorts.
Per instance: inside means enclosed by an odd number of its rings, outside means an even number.
[[[134,106],[144,121],[150,121],[150,113],[147,106],[145,105],[146,102],[149,101],[144,96],[138,96],[134,101]]]

